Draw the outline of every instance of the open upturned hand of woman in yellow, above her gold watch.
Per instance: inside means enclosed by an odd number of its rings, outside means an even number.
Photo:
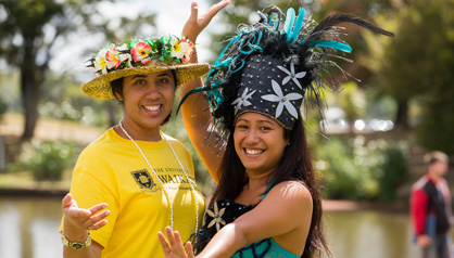
[[[62,209],[64,215],[64,230],[74,231],[87,231],[98,230],[108,223],[105,218],[111,214],[110,210],[105,209],[108,204],[98,204],[91,208],[83,209],[79,208],[77,202],[68,193],[62,201]]]

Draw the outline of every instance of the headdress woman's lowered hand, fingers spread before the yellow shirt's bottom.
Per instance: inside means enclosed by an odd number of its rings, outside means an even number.
[[[185,250],[178,231],[172,231],[171,227],[166,227],[165,234],[167,235],[168,241],[161,231],[157,232],[157,238],[160,238],[165,258],[194,258],[191,242],[186,243]]]

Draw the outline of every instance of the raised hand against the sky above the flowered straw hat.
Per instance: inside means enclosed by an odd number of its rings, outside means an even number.
[[[182,27],[182,36],[187,36],[189,40],[196,42],[199,34],[210,24],[212,18],[223,8],[227,7],[230,0],[220,0],[220,2],[213,4],[206,12],[199,16],[199,7],[197,2],[191,3],[191,15]]]

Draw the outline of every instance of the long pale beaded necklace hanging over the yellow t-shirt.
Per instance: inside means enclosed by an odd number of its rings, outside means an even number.
[[[147,158],[147,156],[143,154],[143,152],[142,152],[142,150],[140,149],[140,146],[139,146],[139,144],[137,144],[137,142],[129,136],[129,133],[125,130],[125,128],[123,127],[123,122],[122,122],[122,120],[118,122],[118,125],[119,125],[119,128],[122,128],[122,130],[123,130],[123,132],[126,134],[126,137],[128,137],[129,138],[129,140],[136,145],[136,147],[137,147],[137,150],[139,150],[139,152],[140,152],[140,154],[142,155],[142,157],[143,157],[143,159],[146,160],[146,163],[147,163],[147,165],[150,167],[150,169],[151,169],[151,171],[153,171],[153,173],[154,173],[154,177],[156,177],[156,179],[157,179],[157,181],[160,181],[160,183],[161,183],[161,186],[163,188],[163,190],[164,190],[164,193],[165,193],[165,197],[167,198],[167,202],[168,202],[168,206],[171,206],[171,228],[172,228],[172,230],[174,230],[174,204],[173,204],[173,202],[172,202],[172,199],[171,199],[171,195],[168,194],[168,192],[167,192],[167,190],[165,189],[165,186],[164,186],[164,183],[161,181],[161,178],[160,177],[157,177],[157,173],[156,173],[156,171],[154,170],[154,168],[153,168],[153,166],[151,166],[151,163],[148,160],[148,158]],[[191,185],[191,193],[192,193],[192,196],[193,196],[193,198],[194,198],[194,203],[196,203],[196,233],[198,232],[198,230],[199,230],[199,204],[197,203],[197,197],[196,197],[196,189],[194,189],[194,185],[196,185],[196,182],[193,182],[189,177],[188,177],[188,175],[186,173],[186,170],[185,170],[185,168],[182,167],[182,165],[181,165],[181,162],[179,160],[179,158],[178,158],[178,156],[177,156],[177,154],[175,153],[175,151],[174,151],[174,149],[172,147],[172,145],[171,145],[171,143],[168,142],[168,140],[167,140],[167,138],[165,138],[161,132],[160,132],[160,136],[161,136],[161,138],[163,138],[166,142],[167,142],[167,145],[171,147],[171,150],[172,150],[172,152],[174,153],[174,157],[175,157],[175,159],[177,159],[177,162],[178,162],[178,164],[179,164],[179,166],[180,166],[180,168],[181,168],[181,170],[182,170],[182,172],[185,173],[185,176],[186,176],[186,179],[188,180],[188,182],[189,182],[189,185]]]

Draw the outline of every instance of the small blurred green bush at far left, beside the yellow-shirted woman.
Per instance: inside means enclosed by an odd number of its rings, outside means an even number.
[[[36,181],[59,181],[65,169],[74,165],[79,149],[71,142],[33,140],[24,144],[21,162]]]

